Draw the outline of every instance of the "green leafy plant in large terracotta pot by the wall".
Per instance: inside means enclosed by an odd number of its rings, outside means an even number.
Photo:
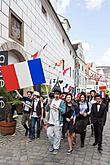
[[[0,88],[1,96],[4,99],[5,106],[3,110],[5,111],[3,120],[0,121],[0,134],[2,135],[12,135],[16,130],[16,120],[13,119],[13,108],[21,104],[22,102],[16,98],[15,92],[8,93],[5,87]]]

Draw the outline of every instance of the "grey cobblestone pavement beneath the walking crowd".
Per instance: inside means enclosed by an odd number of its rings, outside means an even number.
[[[52,155],[48,152],[48,139],[43,130],[41,139],[30,141],[24,136],[20,116],[15,136],[0,135],[0,165],[110,165],[110,112],[103,136],[103,152],[99,154],[93,147],[93,137],[87,129],[85,147],[74,147],[73,153],[67,155],[67,139],[62,140],[60,152]]]

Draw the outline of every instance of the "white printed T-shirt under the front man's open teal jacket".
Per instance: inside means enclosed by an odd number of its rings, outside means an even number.
[[[59,126],[59,106],[60,106],[61,100],[52,100],[52,103],[50,105],[50,118],[49,118],[49,124],[53,124],[56,126]]]

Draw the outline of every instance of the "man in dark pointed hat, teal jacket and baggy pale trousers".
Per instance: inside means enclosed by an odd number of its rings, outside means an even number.
[[[48,112],[48,128],[47,136],[50,142],[49,151],[53,154],[57,154],[63,126],[63,114],[66,111],[66,106],[63,100],[60,99],[61,89],[59,84],[56,84],[53,88],[54,98],[48,100],[46,105],[46,111]]]

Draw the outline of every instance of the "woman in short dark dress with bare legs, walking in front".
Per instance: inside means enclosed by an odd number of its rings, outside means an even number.
[[[67,133],[69,150],[67,154],[71,154],[73,151],[72,142],[75,137],[75,119],[76,113],[74,105],[72,104],[72,95],[67,94],[65,98],[66,113],[65,113],[65,133]]]

